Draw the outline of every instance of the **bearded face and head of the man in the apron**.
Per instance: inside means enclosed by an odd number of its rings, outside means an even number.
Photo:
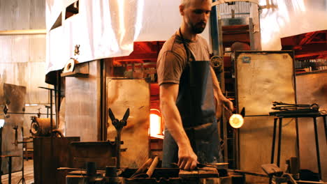
[[[191,33],[202,33],[208,22],[211,11],[211,2],[208,0],[190,0],[189,5],[182,8],[184,21]]]

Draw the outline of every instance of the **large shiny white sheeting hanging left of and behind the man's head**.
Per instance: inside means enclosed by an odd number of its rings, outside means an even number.
[[[75,45],[79,62],[128,56],[134,41],[167,40],[180,26],[176,0],[80,0],[79,13],[65,20],[75,1],[46,0],[47,72],[64,68]],[[60,14],[61,26],[51,30]]]

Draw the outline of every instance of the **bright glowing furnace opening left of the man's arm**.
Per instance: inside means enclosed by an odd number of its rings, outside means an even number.
[[[150,136],[163,139],[161,132],[161,113],[158,109],[150,109]]]

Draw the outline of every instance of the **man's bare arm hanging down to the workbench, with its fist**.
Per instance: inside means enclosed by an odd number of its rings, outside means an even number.
[[[182,118],[176,106],[179,84],[160,85],[160,108],[170,134],[178,146],[178,166],[180,169],[192,170],[196,167],[198,157],[191,148],[189,138],[184,131]]]

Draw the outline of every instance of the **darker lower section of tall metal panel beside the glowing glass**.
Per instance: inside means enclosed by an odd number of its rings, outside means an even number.
[[[274,117],[245,117],[244,122],[244,125],[240,128],[240,169],[264,174],[261,164],[270,164]],[[277,142],[278,137],[276,137],[275,144],[275,163],[277,162]],[[280,168],[285,170],[285,161],[296,156],[295,119],[285,118],[282,128]],[[266,178],[254,176],[247,176],[247,182],[268,183]]]

